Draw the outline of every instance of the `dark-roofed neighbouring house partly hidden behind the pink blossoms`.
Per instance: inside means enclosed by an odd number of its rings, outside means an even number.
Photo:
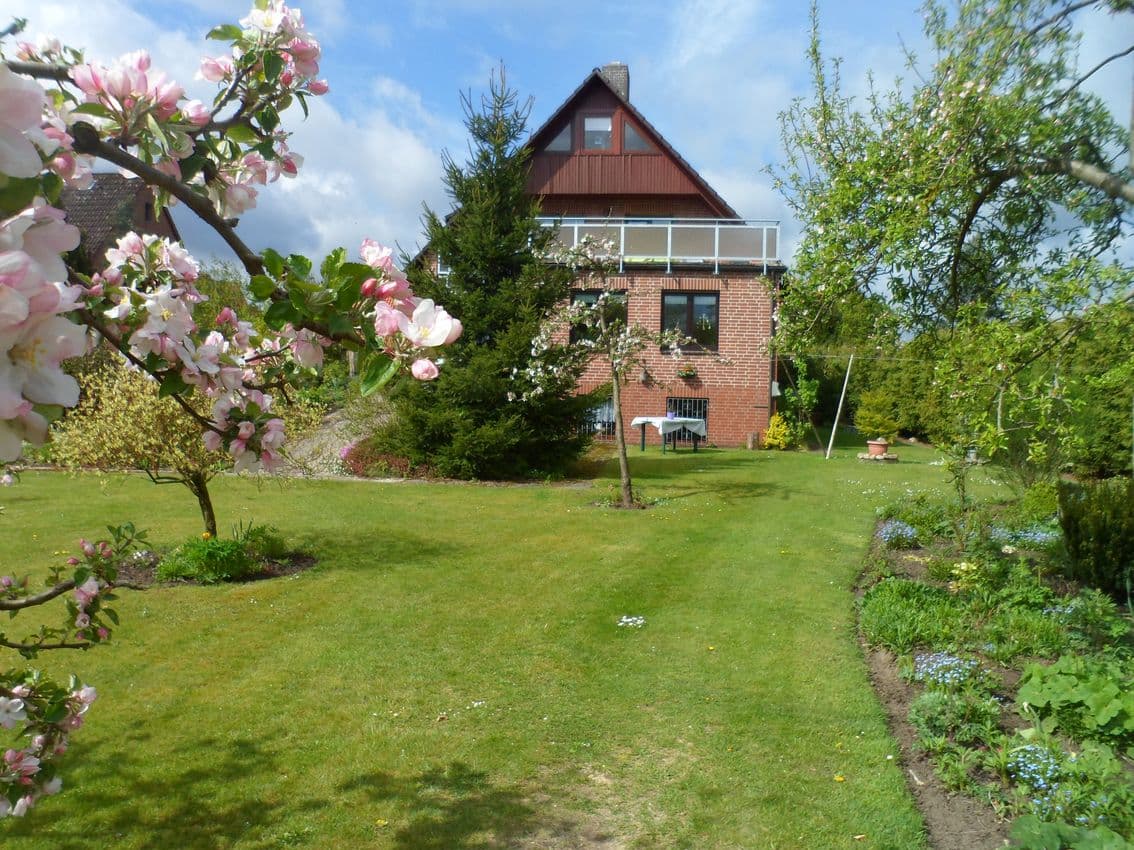
[[[83,235],[77,248],[90,271],[105,266],[107,248],[128,231],[154,233],[174,241],[181,235],[168,210],[155,214],[153,190],[136,177],[117,172],[96,172],[90,188],[64,189],[59,206],[67,212],[67,221]]]

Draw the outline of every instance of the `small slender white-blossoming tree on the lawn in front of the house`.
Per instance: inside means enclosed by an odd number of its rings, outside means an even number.
[[[562,374],[578,374],[581,366],[595,357],[602,357],[609,364],[620,504],[633,508],[634,486],[623,427],[623,384],[641,368],[642,352],[648,346],[668,349],[675,359],[679,359],[682,346],[692,340],[671,329],[657,333],[626,321],[626,295],[612,286],[618,269],[618,254],[612,240],[584,237],[573,248],[557,247],[548,260],[570,269],[578,283],[599,290],[599,296],[593,303],[575,300],[552,313],[532,341],[532,360],[527,368],[514,374],[513,379],[524,388],[522,397],[538,396],[545,384],[558,381]],[[619,299],[623,309],[615,308]],[[565,326],[581,331],[567,345],[557,341]]]

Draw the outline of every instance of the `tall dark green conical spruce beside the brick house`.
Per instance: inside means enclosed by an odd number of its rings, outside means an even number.
[[[465,330],[435,381],[395,391],[379,443],[447,477],[557,475],[589,443],[583,424],[595,399],[576,394],[577,369],[532,399],[513,385],[541,323],[570,291],[570,273],[543,260],[553,232],[540,226],[539,202],[526,192],[531,104],[507,86],[502,68],[479,102],[462,96],[469,156],[442,159],[452,212],[426,207],[424,215],[425,255],[439,256],[447,274],[428,262],[409,270],[414,291],[443,304]]]

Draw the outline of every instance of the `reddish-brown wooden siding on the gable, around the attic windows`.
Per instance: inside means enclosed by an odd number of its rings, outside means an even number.
[[[583,150],[583,118],[593,114],[613,117],[609,151]],[[573,128],[572,152],[550,153],[542,150],[543,144],[568,121]],[[624,153],[625,122],[653,142],[654,150]],[[579,93],[568,114],[544,128],[540,138],[533,139],[538,147],[532,155],[527,189],[533,195],[542,196],[549,210],[555,206],[556,196],[684,196],[680,203],[675,197],[672,203],[663,206],[680,206],[688,214],[699,216],[719,214],[704,201],[701,187],[686,169],[667,156],[652,137],[653,133],[643,127],[606,86],[590,85]]]

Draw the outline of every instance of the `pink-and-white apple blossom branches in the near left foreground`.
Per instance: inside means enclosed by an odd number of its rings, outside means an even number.
[[[0,464],[18,458],[23,442],[43,442],[49,419],[76,405],[78,384],[61,364],[96,343],[153,377],[237,471],[277,467],[285,433],[272,393],[318,368],[330,345],[359,355],[364,392],[399,372],[437,376],[432,351],[460,334],[460,322],[414,296],[389,248],[366,239],[359,261],[339,248],[316,271],[307,257],[256,253],[237,236],[235,216],[302,167],[281,114],[295,105],[306,113],[308,99],[328,91],[319,42],[298,9],[256,0],[238,25],[209,33],[228,45],[201,63],[198,76],[218,86],[211,103],[187,99],[145,51],[102,65],[44,40],[17,41],[9,54],[2,40],[22,27],[0,33]],[[96,273],[69,270],[64,255],[79,232],[53,204],[65,185],[91,185],[96,160],[142,178],[159,207],[181,204],[212,227],[249,274],[271,332],[256,333],[230,308],[198,323],[197,263],[167,239],[129,232]],[[67,609],[62,626],[20,640],[0,635],[0,647],[34,656],[105,640],[116,618],[103,602],[134,539],[127,526],[113,542],[84,543],[70,575],[52,570],[44,590],[0,577],[0,611],[60,598]],[[0,728],[18,739],[0,763],[0,816],[58,791],[54,759],[93,697],[34,671],[0,673]]]

